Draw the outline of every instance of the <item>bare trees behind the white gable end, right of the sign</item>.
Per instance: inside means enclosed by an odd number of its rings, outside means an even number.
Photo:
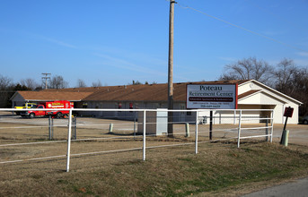
[[[256,57],[243,58],[224,66],[219,80],[256,80],[304,104],[300,116],[308,114],[308,66],[300,67],[294,60],[284,58],[270,65]]]

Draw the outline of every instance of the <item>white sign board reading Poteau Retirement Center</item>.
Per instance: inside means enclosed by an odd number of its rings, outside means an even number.
[[[237,84],[188,84],[186,107],[235,109]]]

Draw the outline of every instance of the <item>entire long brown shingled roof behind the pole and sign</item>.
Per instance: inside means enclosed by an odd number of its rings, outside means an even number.
[[[187,84],[242,84],[249,80],[199,81],[173,83],[173,100],[186,101]],[[70,100],[70,101],[167,101],[168,84],[140,84],[103,86],[97,88],[71,88],[61,90],[18,91],[26,100]]]

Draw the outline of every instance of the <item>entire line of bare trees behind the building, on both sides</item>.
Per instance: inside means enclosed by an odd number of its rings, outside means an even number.
[[[277,64],[271,65],[268,62],[256,57],[243,58],[233,64],[224,66],[224,73],[218,80],[256,80],[278,90],[289,97],[297,99],[304,104],[300,107],[300,116],[308,114],[308,67],[300,67],[292,59],[284,58]],[[153,82],[156,83],[156,82]],[[131,85],[143,84],[133,80]],[[148,84],[145,81],[145,84]],[[92,87],[100,87],[101,81],[93,81]],[[88,87],[84,80],[78,79],[75,88]],[[11,107],[9,99],[17,90],[42,90],[45,88],[45,81],[41,83],[28,78],[19,82],[0,74],[0,107]],[[48,89],[68,88],[68,82],[60,75],[50,77]]]

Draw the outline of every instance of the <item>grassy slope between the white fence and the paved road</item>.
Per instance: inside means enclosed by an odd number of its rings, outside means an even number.
[[[39,182],[40,179],[42,184],[50,184],[50,189],[38,192],[29,188],[33,192],[26,195],[188,196],[308,176],[307,147],[285,148],[270,143],[244,143],[241,146],[237,149],[235,144],[203,144],[198,155],[173,154],[150,157],[146,161],[128,159],[108,167],[36,175],[31,177],[31,181]],[[185,151],[187,147],[166,150],[179,149]],[[148,150],[147,154],[153,155],[155,151],[159,150]],[[9,184],[0,190],[0,195],[8,194],[5,191],[13,186],[17,187],[16,191],[24,190],[22,184]]]

